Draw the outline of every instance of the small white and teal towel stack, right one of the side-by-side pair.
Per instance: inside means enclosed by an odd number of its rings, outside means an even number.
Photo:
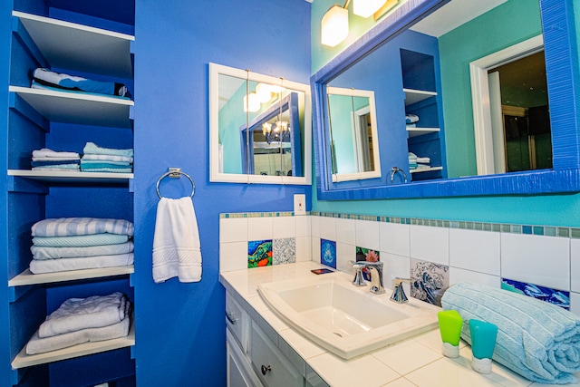
[[[83,172],[118,172],[133,171],[133,150],[102,148],[93,142],[84,146],[81,159]]]

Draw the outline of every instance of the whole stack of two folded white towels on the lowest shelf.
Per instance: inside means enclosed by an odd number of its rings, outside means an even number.
[[[131,301],[120,292],[70,298],[46,317],[26,344],[26,353],[124,337],[129,334],[130,315]]]

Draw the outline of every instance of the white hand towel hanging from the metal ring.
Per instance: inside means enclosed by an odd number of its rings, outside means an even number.
[[[198,219],[191,198],[160,198],[153,236],[153,280],[201,280]]]

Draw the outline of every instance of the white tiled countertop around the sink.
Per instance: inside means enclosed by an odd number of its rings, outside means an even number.
[[[544,386],[530,382],[506,367],[493,363],[493,371],[482,375],[471,369],[471,348],[460,344],[460,355],[449,359],[441,354],[438,329],[420,334],[400,343],[344,360],[297,334],[281,321],[262,301],[256,285],[273,281],[314,276],[310,270],[319,268],[314,262],[257,267],[220,275],[226,289],[247,301],[275,332],[288,343],[305,362],[333,387],[475,387],[475,386]],[[324,275],[322,275],[324,276]],[[576,374],[580,379],[580,372]],[[551,384],[550,384],[551,385]],[[580,387],[580,383],[569,384]]]

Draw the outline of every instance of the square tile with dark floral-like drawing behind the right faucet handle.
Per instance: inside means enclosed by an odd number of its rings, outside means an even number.
[[[433,305],[449,287],[449,266],[411,259],[411,295]]]

